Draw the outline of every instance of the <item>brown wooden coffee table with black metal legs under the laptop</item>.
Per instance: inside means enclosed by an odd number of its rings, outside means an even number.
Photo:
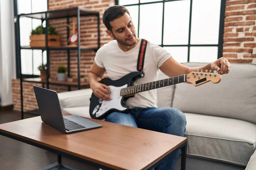
[[[57,153],[58,162],[47,168],[65,166],[61,156],[66,156],[104,170],[151,170],[181,149],[181,170],[186,169],[185,137],[86,119],[102,127],[64,134],[37,116],[1,124],[0,135]]]

